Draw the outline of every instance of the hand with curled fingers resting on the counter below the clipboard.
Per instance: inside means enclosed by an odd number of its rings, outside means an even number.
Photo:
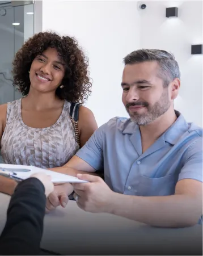
[[[69,195],[73,192],[73,186],[70,183],[57,184],[54,186],[54,191],[46,200],[46,213],[56,209],[59,205],[66,207],[69,200]]]

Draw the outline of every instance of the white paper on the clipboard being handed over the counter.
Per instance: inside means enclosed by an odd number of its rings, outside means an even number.
[[[52,177],[53,183],[84,183],[87,181],[83,181],[82,179],[78,179],[77,177],[73,177],[67,174],[62,173],[56,173],[56,171],[50,171],[46,169],[42,169],[35,166],[29,166],[29,165],[9,165],[5,163],[0,163],[0,169],[9,168],[9,169],[29,169],[30,171],[14,171],[16,175],[13,177],[19,178],[19,179],[28,179],[32,174],[34,173],[40,173],[43,172],[47,175],[50,175]]]

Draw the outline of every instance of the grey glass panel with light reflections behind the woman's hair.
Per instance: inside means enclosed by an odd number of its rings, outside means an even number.
[[[22,97],[12,86],[12,60],[33,35],[33,12],[33,5],[12,7],[10,1],[0,1],[0,104]]]

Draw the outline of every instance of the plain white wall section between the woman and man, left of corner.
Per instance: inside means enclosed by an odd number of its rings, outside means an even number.
[[[134,1],[43,1],[43,30],[75,36],[90,58],[92,95],[86,104],[98,125],[128,116],[121,103],[122,58],[139,48]]]

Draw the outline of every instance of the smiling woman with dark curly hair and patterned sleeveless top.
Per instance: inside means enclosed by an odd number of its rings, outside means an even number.
[[[24,97],[0,106],[5,163],[60,167],[86,143],[98,126],[88,108],[74,103],[83,104],[91,93],[87,68],[73,37],[40,32],[19,49],[14,85]]]

